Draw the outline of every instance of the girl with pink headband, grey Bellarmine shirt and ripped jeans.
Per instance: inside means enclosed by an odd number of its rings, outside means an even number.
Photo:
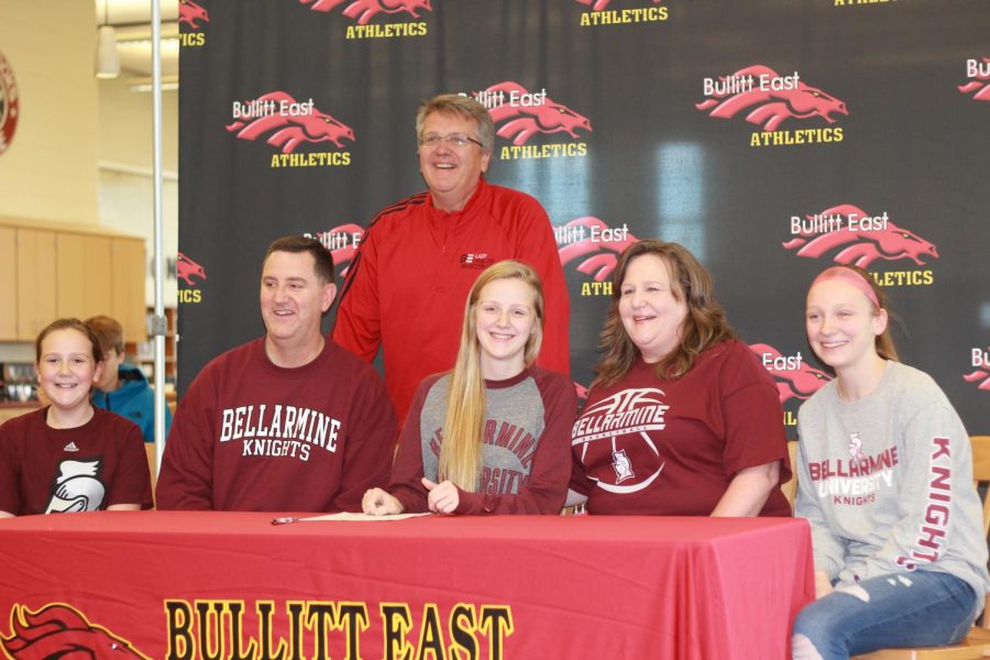
[[[794,623],[795,660],[957,642],[990,586],[969,437],[938,385],[898,362],[888,307],[854,266],[807,293],[807,341],[836,377],[798,414],[816,600]]]

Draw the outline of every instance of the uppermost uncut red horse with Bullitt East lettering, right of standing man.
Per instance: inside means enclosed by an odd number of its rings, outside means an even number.
[[[846,103],[831,94],[805,84],[798,72],[778,74],[772,68],[757,64],[739,69],[729,76],[704,78],[705,100],[695,108],[710,117],[732,119],[743,113],[746,121],[763,131],[776,131],[787,120],[820,118],[835,123],[836,114],[848,116]]]

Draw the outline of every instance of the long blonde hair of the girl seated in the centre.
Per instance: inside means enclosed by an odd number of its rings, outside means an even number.
[[[464,304],[461,348],[458,351],[457,364],[450,374],[438,470],[440,481],[450,480],[470,493],[477,490],[486,405],[475,310],[482,289],[496,279],[519,279],[532,289],[536,322],[522,353],[526,367],[532,366],[536,362],[543,341],[543,285],[536,271],[516,261],[503,261],[479,275]]]

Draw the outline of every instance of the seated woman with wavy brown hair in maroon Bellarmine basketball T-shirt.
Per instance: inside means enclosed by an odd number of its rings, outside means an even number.
[[[592,514],[789,516],[773,378],[684,248],[640,241],[613,275],[603,356],[574,424],[569,505]]]

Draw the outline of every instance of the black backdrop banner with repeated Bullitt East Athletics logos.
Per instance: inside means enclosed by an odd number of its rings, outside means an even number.
[[[792,438],[829,377],[803,311],[833,263],[873,274],[903,320],[902,359],[971,433],[990,432],[987,0],[180,9],[180,392],[264,332],[273,239],[319,238],[341,274],[375,212],[424,189],[416,109],[461,92],[495,119],[490,180],[535,196],[554,224],[580,387],[617,254],[659,238],[712,271]]]

